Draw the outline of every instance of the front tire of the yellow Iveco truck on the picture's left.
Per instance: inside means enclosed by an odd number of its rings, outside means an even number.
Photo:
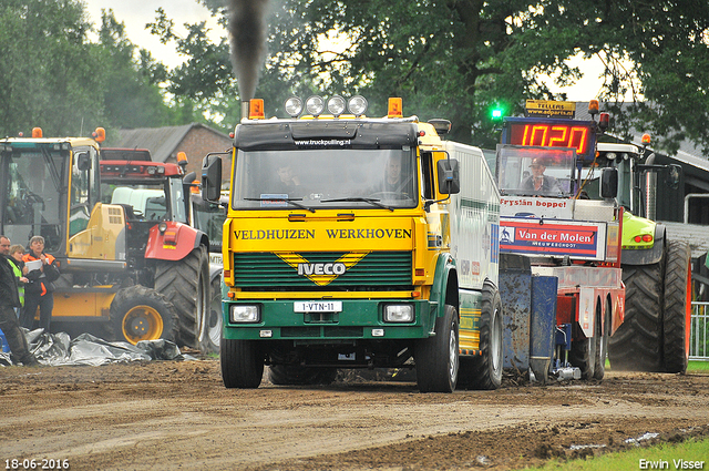
[[[222,380],[227,388],[256,389],[264,376],[264,355],[255,340],[219,341]]]

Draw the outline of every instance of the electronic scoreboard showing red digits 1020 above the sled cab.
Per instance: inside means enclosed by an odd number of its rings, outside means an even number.
[[[596,151],[596,123],[559,119],[507,117],[503,144],[542,147],[572,147],[582,161],[593,161]]]

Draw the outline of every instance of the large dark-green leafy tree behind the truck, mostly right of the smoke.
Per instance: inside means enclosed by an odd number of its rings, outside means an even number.
[[[225,0],[201,1],[227,21]],[[267,98],[267,112],[278,111],[290,93],[317,90],[363,94],[369,114],[382,115],[386,99],[395,95],[405,114],[448,117],[453,139],[489,147],[499,140],[492,109],[514,115],[526,99],[566,99],[542,78],[574,83],[580,71],[565,61],[583,54],[605,63],[598,71],[604,88],[599,96],[589,91],[589,100],[615,103],[627,92],[636,100],[613,106],[616,134],[627,136],[635,125],[656,133],[655,145],[669,151],[680,139],[709,145],[702,124],[709,4],[700,0],[285,0],[271,7],[269,54],[256,92]],[[328,35],[346,47],[331,50]],[[202,90],[203,100],[236,96],[226,41],[220,48],[216,80],[213,73],[206,84],[198,68],[183,68],[174,71],[171,90]],[[203,50],[183,52],[203,60]]]

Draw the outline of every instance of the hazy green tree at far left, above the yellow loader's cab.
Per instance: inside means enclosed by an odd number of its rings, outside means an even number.
[[[66,135],[101,121],[102,90],[81,2],[6,0],[0,24],[0,134],[28,135],[41,126],[45,135]]]

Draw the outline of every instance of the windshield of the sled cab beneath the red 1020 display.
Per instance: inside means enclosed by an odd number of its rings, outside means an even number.
[[[574,149],[497,145],[495,171],[503,195],[572,196],[575,165]]]

